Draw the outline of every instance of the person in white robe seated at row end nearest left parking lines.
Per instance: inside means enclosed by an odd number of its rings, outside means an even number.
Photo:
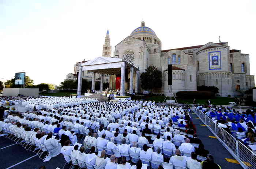
[[[44,145],[49,151],[49,157],[55,157],[60,154],[61,144],[58,142],[57,139],[52,137],[52,133],[49,133],[48,136],[45,138]]]

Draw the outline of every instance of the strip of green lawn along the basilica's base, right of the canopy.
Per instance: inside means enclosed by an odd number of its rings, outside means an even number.
[[[154,100],[156,103],[163,102],[164,99],[165,99],[165,96],[152,96],[152,97],[145,98],[145,100],[148,100],[148,101]],[[169,97],[167,97],[166,99],[169,99]],[[178,103],[188,103],[188,104],[193,103],[193,99],[180,99],[180,98],[176,98],[176,99]],[[216,97],[210,100],[213,105],[229,105],[229,102],[234,102],[234,98],[229,98],[229,97]],[[207,99],[196,99],[196,103],[199,103],[199,104],[206,104],[206,101]]]

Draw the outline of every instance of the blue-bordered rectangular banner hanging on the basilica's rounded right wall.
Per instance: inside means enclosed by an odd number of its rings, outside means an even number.
[[[209,70],[221,69],[221,51],[209,52]]]

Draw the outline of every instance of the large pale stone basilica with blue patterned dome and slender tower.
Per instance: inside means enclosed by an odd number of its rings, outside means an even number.
[[[163,85],[153,93],[169,95],[168,64],[172,64],[172,92],[196,91],[197,86],[217,86],[220,96],[237,96],[255,86],[254,76],[250,75],[249,54],[230,49],[228,42],[208,42],[203,45],[162,50],[162,42],[145,22],[131,32],[114,47],[112,56],[109,31],[107,31],[102,56],[125,59],[139,68],[140,73],[154,65],[162,72]],[[101,57],[102,58],[102,57]],[[74,74],[85,62],[75,64]],[[100,75],[96,75],[97,77]],[[130,73],[127,72],[127,79]],[[134,76],[132,76],[135,78]],[[91,72],[83,72],[83,78],[90,80]],[[118,74],[105,75],[109,89],[116,90]],[[129,80],[125,90],[129,90]],[[135,84],[133,84],[135,85]],[[134,89],[134,88],[133,88]],[[139,88],[138,93],[142,92]]]

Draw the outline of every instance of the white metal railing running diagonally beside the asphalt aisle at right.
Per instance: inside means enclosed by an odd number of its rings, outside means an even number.
[[[210,117],[191,105],[199,119],[208,127],[221,144],[229,151],[229,153],[240,163],[244,169],[256,169],[256,154],[248,149],[244,144],[229,134],[222,127],[219,127],[212,121]]]

